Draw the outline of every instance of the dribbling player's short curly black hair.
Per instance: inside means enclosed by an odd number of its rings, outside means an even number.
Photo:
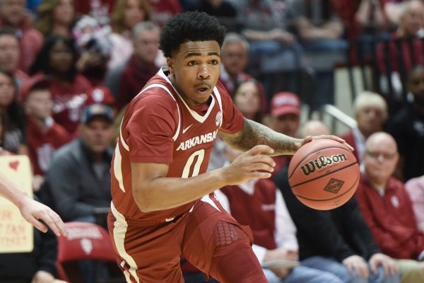
[[[179,45],[189,41],[215,40],[221,47],[226,30],[225,26],[207,13],[198,11],[179,13],[163,28],[159,48],[165,57],[170,57],[172,51],[179,50]]]

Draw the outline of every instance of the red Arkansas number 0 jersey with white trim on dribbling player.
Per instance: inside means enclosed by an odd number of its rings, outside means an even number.
[[[138,224],[172,219],[188,212],[194,202],[141,212],[132,195],[131,162],[169,163],[168,177],[205,173],[218,130],[235,134],[245,123],[221,83],[213,88],[204,113],[184,102],[168,73],[160,69],[129,103],[112,160],[112,211]]]

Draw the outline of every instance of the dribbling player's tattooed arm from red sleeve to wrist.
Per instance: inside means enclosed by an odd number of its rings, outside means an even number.
[[[293,154],[300,146],[301,139],[294,139],[273,131],[269,127],[245,119],[245,127],[236,134],[223,134],[222,137],[231,146],[247,151],[258,144],[266,144],[274,149],[274,155]]]

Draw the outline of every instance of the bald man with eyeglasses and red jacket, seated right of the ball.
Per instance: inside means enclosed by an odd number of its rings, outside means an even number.
[[[376,132],[365,143],[356,197],[382,253],[396,258],[402,282],[424,282],[424,234],[418,230],[404,183],[392,177],[396,141]]]

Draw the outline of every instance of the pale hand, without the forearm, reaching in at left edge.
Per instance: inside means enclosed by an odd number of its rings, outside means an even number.
[[[24,197],[19,210],[23,218],[30,222],[30,224],[33,224],[38,230],[46,233],[48,229],[47,226],[49,226],[57,236],[67,235],[64,222],[56,212],[47,207],[45,204],[32,200],[29,197]],[[44,221],[47,226],[42,224],[40,219]]]

